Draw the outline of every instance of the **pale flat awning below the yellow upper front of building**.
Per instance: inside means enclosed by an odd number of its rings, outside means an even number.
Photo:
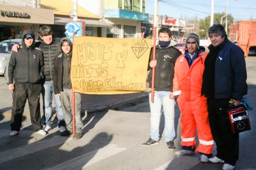
[[[103,28],[112,28],[112,24],[108,24],[104,21],[99,20],[85,20],[85,19],[79,19],[80,21],[85,22],[85,26],[87,27],[103,27]],[[68,21],[72,21],[72,18],[64,18],[64,17],[54,17],[54,24],[58,25],[65,25],[68,23]]]

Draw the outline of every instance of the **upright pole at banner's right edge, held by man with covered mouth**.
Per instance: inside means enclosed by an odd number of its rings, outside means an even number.
[[[155,61],[156,55],[156,23],[157,23],[157,1],[155,0],[155,14],[154,14],[154,27],[153,27],[153,61]],[[152,82],[151,82],[151,102],[154,102],[155,95],[155,67],[152,68]]]

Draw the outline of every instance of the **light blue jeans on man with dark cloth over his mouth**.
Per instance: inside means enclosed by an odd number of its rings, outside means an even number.
[[[154,103],[151,102],[151,93],[149,93],[150,106],[150,138],[159,141],[159,125],[161,118],[161,109],[163,107],[165,125],[165,142],[169,142],[175,137],[174,129],[174,105],[175,100],[169,98],[169,91],[155,91]]]

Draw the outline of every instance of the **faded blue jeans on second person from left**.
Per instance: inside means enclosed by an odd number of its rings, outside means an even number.
[[[43,118],[45,124],[50,126],[52,125],[51,116],[52,116],[52,98],[54,97],[55,109],[58,118],[58,126],[65,126],[64,114],[61,107],[60,97],[54,94],[53,90],[53,80],[45,81],[42,86],[42,95],[43,95]],[[53,96],[53,97],[52,97]]]

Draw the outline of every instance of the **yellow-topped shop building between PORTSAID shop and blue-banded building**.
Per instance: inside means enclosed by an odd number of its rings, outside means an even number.
[[[94,14],[87,10],[80,3],[83,1],[78,0],[77,4],[77,17],[79,21],[85,23],[85,35],[94,37],[106,37],[106,28],[112,28],[112,24],[102,21],[98,14]],[[97,1],[92,1],[96,7]],[[41,0],[41,6],[47,9],[54,9],[54,25],[50,25],[55,31],[56,37],[65,36],[65,24],[73,21],[73,1],[72,0]],[[62,29],[62,30],[61,30]],[[64,29],[64,30],[63,30]],[[60,31],[58,31],[60,30]]]

